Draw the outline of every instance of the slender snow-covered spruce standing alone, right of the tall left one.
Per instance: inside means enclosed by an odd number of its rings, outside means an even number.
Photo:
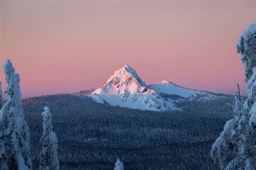
[[[49,107],[44,107],[44,112],[42,113],[44,123],[43,123],[43,136],[41,138],[41,143],[43,144],[43,149],[40,153],[40,165],[39,169],[43,170],[58,170],[59,160],[58,160],[58,139],[56,133],[53,132],[52,118]]]

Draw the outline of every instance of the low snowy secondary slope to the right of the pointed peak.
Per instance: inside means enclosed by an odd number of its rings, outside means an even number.
[[[180,87],[166,80],[163,80],[160,83],[150,85],[150,87],[156,90],[158,93],[176,94],[184,98],[191,98],[198,95],[209,95],[209,93],[206,92],[190,90],[184,87]]]

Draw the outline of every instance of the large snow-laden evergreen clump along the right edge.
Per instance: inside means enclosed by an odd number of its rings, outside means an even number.
[[[256,169],[256,22],[238,40],[237,51],[245,66],[246,101],[237,93],[234,118],[212,145],[211,156],[221,169]]]

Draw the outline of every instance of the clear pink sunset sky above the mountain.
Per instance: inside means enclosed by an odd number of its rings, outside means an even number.
[[[146,84],[165,79],[234,94],[239,83],[246,91],[235,46],[256,20],[255,1],[4,0],[0,5],[1,63],[11,59],[23,97],[93,89],[125,64]]]

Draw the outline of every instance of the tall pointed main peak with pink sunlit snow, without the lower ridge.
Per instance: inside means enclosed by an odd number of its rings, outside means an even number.
[[[149,89],[131,66],[115,71],[106,83],[89,95],[98,103],[142,110],[176,110],[173,101],[164,100],[154,89]]]

